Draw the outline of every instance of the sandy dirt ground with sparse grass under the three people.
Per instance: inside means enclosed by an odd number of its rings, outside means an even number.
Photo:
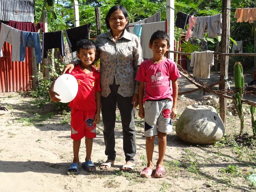
[[[215,77],[216,76],[216,77]],[[211,81],[218,81],[218,75]],[[215,78],[214,78],[215,77]],[[180,91],[191,85],[180,79]],[[192,99],[191,99],[192,98]],[[194,100],[193,100],[194,99]],[[255,99],[251,97],[251,100]],[[203,101],[197,92],[178,99],[178,114],[185,107]],[[256,142],[252,135],[251,116],[245,116],[245,136],[240,132],[238,116],[227,116],[226,135],[214,145],[192,145],[180,140],[173,132],[167,135],[165,153],[166,177],[140,178],[139,173],[147,164],[143,120],[136,115],[135,168],[120,171],[125,163],[122,150],[122,125],[119,111],[116,121],[116,162],[113,168],[101,170],[104,154],[103,126],[97,126],[92,160],[97,165],[94,173],[86,172],[80,163],[77,176],[67,175],[72,161],[69,113],[54,110],[54,104],[42,105],[40,99],[28,96],[1,97],[0,105],[13,112],[12,117],[0,118],[0,191],[256,191],[247,177],[256,174]],[[248,135],[249,136],[248,136]],[[153,161],[157,161],[158,139],[155,139]],[[84,139],[80,149],[80,162],[85,158]]]

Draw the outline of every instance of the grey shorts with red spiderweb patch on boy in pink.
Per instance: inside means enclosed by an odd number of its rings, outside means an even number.
[[[170,118],[171,109],[172,101],[170,101],[170,99],[162,101],[145,101],[145,137],[152,137],[157,134],[157,131],[162,133],[172,131],[172,119]]]

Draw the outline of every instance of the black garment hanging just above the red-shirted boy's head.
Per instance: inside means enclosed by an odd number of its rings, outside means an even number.
[[[90,28],[91,23],[65,30],[70,52],[74,52],[77,50],[78,40],[89,38]]]

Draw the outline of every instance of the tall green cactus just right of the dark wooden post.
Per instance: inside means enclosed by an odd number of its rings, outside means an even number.
[[[233,96],[233,101],[234,101],[234,106],[236,108],[237,114],[240,119],[240,135],[242,135],[244,130],[244,114],[243,114],[243,108],[242,108],[242,96],[244,92],[244,76],[243,76],[243,67],[240,62],[235,62],[234,79],[235,79],[235,89],[237,92]]]

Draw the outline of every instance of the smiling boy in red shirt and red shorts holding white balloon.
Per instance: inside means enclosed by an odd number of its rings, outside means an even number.
[[[96,45],[91,40],[80,40],[77,43],[77,57],[81,65],[77,65],[69,73],[78,82],[78,93],[69,103],[71,110],[71,139],[73,139],[73,163],[67,173],[79,173],[79,148],[85,136],[86,157],[82,167],[88,172],[95,171],[91,162],[92,139],[96,137],[96,124],[100,120],[100,73],[91,65],[97,56]],[[53,102],[59,102],[58,93],[53,91],[54,81],[49,90]]]

